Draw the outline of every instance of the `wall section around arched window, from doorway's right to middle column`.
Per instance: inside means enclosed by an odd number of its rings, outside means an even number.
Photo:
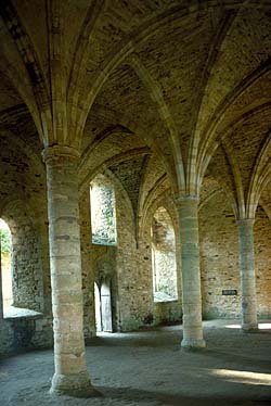
[[[117,211],[117,275],[119,289],[120,328],[122,331],[145,326],[156,326],[181,321],[181,275],[178,257],[179,236],[177,212],[169,193],[164,194],[164,200],[155,200],[151,206],[145,224],[141,229],[138,241],[134,238],[136,228],[132,221],[130,202],[120,189],[116,188]],[[119,202],[121,202],[119,204]],[[171,216],[177,241],[177,297],[170,302],[155,302],[153,291],[152,269],[152,234],[151,228],[154,214],[159,206],[164,206]],[[172,236],[171,236],[172,237]]]

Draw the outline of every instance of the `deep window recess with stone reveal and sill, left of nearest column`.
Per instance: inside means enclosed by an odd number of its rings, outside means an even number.
[[[14,208],[14,207],[13,207]],[[40,317],[43,280],[38,238],[31,219],[21,212],[0,219],[0,305],[4,319]]]

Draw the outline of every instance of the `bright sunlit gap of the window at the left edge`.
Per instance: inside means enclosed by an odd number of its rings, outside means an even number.
[[[12,293],[12,238],[8,224],[0,218],[1,234],[1,279],[3,309],[9,308],[13,303]]]

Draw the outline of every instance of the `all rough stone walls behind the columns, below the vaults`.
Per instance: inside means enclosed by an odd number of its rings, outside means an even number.
[[[0,353],[52,345],[51,284],[48,250],[48,218],[44,167],[33,157],[4,143],[0,163],[2,177],[1,217],[13,238],[14,304],[40,312],[36,316],[5,318],[0,327]],[[16,161],[17,160],[17,161]],[[13,162],[16,161],[16,165]],[[5,167],[8,165],[8,170]],[[89,183],[80,188],[80,238],[85,337],[95,335],[94,282],[111,284],[114,331],[129,331],[146,326],[180,321],[181,266],[178,213],[169,190],[153,195],[144,221],[138,227],[137,213],[120,181],[106,172],[106,182],[116,199],[117,243],[94,244],[91,231]],[[106,185],[107,185],[106,183]],[[9,199],[8,199],[8,198]],[[155,302],[152,271],[152,225],[158,207],[168,213],[173,234],[170,241],[157,232],[156,246],[172,248],[176,242],[177,297]],[[157,224],[156,224],[157,226]],[[157,230],[156,230],[157,231]],[[270,221],[261,208],[255,224],[255,262],[258,313],[270,317],[271,246]],[[164,236],[165,237],[165,236]],[[205,318],[238,317],[241,309],[237,227],[231,206],[222,192],[206,200],[199,212],[203,314]],[[170,244],[169,244],[170,242]],[[170,246],[169,246],[169,245]],[[164,246],[165,245],[165,246]],[[165,265],[165,264],[164,264]],[[166,264],[167,265],[167,264]],[[164,266],[165,275],[168,267]],[[222,289],[237,295],[222,295]]]

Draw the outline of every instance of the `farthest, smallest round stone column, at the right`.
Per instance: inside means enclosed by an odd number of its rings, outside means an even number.
[[[258,329],[256,279],[254,267],[254,219],[237,221],[240,246],[240,274],[242,292],[242,329]]]

